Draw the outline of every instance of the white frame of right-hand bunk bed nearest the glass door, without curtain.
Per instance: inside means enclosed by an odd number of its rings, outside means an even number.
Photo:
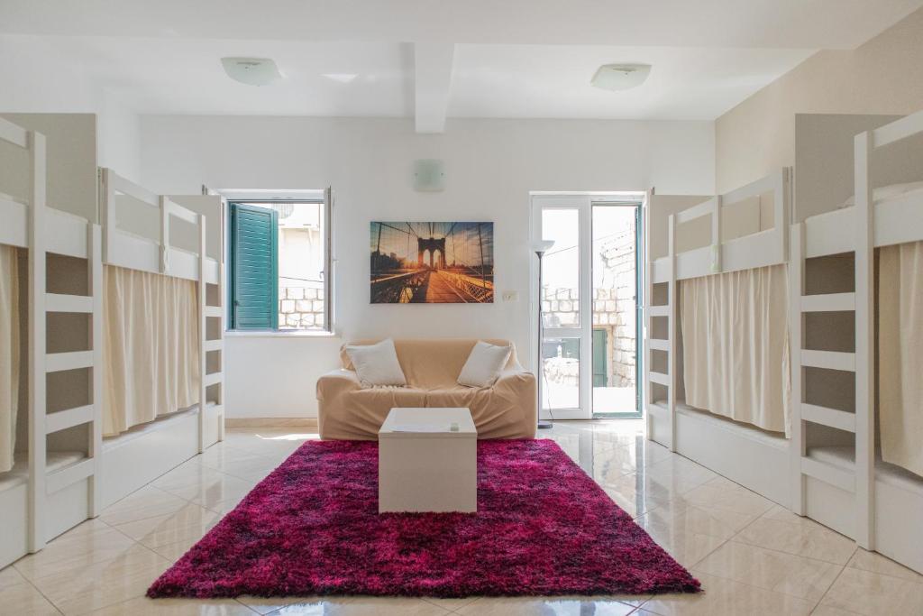
[[[655,284],[666,284],[667,287],[664,304],[648,303],[646,306],[648,335],[644,339],[644,395],[647,401],[649,438],[785,506],[788,503],[788,482],[785,477],[779,477],[774,472],[787,465],[785,439],[692,409],[677,400],[677,384],[680,379],[677,374],[677,291],[680,280],[786,263],[791,179],[791,170],[782,168],[748,186],[670,214],[667,220],[666,256],[652,259],[650,241],[645,247],[648,251],[646,301],[653,301]],[[773,193],[773,227],[722,241],[721,212],[768,192]],[[655,196],[649,195],[649,204],[653,199]],[[708,245],[677,252],[678,225],[704,216],[711,216]],[[650,212],[648,218],[650,220]],[[650,238],[650,228],[648,234]],[[665,319],[665,338],[653,337],[655,319]],[[665,353],[665,372],[653,369],[655,352]],[[665,404],[657,401],[654,395],[656,385],[666,389]]]

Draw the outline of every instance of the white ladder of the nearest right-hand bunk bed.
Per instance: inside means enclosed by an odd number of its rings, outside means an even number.
[[[805,224],[791,227],[791,360],[792,360],[792,511],[806,515],[806,478],[813,477],[855,494],[856,516],[853,536],[859,546],[874,549],[874,244],[871,193],[868,185],[869,134],[856,141],[855,290],[853,293],[806,295]],[[806,322],[812,312],[853,312],[856,345],[852,353],[806,349]],[[852,372],[856,382],[855,412],[809,404],[805,368],[827,368]],[[819,424],[855,435],[856,462],[853,471],[809,456],[808,424]]]

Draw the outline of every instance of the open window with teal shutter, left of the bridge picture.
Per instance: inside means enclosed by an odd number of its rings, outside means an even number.
[[[228,201],[228,329],[330,332],[330,190]]]

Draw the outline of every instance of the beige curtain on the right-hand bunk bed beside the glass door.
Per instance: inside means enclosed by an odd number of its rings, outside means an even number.
[[[686,404],[789,434],[785,265],[680,281]]]

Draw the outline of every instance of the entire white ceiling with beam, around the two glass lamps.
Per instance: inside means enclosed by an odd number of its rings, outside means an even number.
[[[143,114],[704,119],[923,0],[0,0],[0,109]],[[220,58],[273,58],[253,88]],[[601,91],[601,64],[653,65]],[[12,84],[12,87],[6,87]]]

